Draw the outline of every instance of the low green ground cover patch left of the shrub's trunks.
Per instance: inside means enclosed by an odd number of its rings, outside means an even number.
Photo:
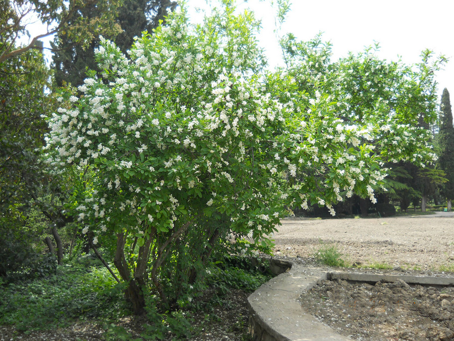
[[[0,324],[29,330],[65,326],[78,318],[116,319],[127,313],[122,289],[102,267],[62,266],[48,278],[4,284]]]

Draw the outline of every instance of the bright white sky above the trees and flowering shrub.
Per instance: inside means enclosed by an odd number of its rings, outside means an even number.
[[[276,0],[274,0],[276,2]],[[213,3],[217,3],[215,0]],[[281,63],[274,30],[271,0],[237,0],[239,9],[250,8],[262,19],[260,45],[265,48],[271,67]],[[196,8],[208,9],[205,0],[187,0],[189,16],[200,22]],[[454,103],[454,0],[293,0],[281,34],[292,32],[298,39],[310,40],[318,32],[330,40],[332,60],[360,52],[364,46],[380,43],[379,57],[419,62],[425,48],[435,56],[445,55],[450,62],[436,74],[438,92],[446,87]],[[42,28],[41,28],[42,30]],[[39,34],[39,27],[31,34]],[[46,44],[48,46],[48,43]]]

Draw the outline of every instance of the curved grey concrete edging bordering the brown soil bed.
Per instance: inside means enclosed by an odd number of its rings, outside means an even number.
[[[281,261],[280,261],[281,262]],[[287,263],[287,262],[286,262]],[[288,264],[292,264],[288,262]],[[284,265],[284,264],[282,264]],[[287,265],[287,268],[289,265]],[[281,268],[286,271],[286,268]],[[249,325],[254,341],[347,341],[307,313],[297,299],[320,280],[344,279],[361,282],[394,282],[401,279],[420,285],[454,285],[451,276],[409,276],[346,271],[323,271],[294,264],[270,279],[248,298]]]

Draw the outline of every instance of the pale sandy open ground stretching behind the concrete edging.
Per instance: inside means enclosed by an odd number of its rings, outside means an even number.
[[[282,219],[275,255],[311,257],[335,245],[351,264],[437,270],[454,267],[454,212],[391,218]]]

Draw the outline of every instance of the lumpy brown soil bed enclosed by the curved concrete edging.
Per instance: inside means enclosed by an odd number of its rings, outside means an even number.
[[[300,303],[321,322],[360,340],[454,339],[454,288],[323,281]]]

